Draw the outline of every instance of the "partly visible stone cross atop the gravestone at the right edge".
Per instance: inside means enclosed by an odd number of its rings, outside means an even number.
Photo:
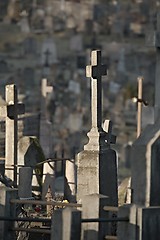
[[[150,30],[146,35],[146,45],[156,47],[156,74],[155,74],[155,121],[160,114],[160,13],[157,13],[157,24],[155,30]]]

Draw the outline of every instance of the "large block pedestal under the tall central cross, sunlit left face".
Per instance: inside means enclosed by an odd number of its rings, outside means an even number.
[[[108,196],[107,204],[118,206],[117,161],[112,149],[82,151],[77,155],[77,200],[89,194]]]

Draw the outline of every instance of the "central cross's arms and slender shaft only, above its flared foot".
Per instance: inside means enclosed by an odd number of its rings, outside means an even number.
[[[102,83],[103,75],[107,75],[107,66],[101,64],[101,51],[91,52],[91,65],[86,67],[86,77],[91,78],[92,129],[102,128]]]

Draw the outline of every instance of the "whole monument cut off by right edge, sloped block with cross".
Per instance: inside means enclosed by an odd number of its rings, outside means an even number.
[[[157,31],[147,35],[147,44],[157,49],[156,79],[155,79],[155,123],[148,125],[132,147],[132,191],[133,203],[143,206],[159,205],[158,195],[160,185],[159,161],[159,61],[160,61],[160,14],[157,14]],[[138,184],[137,184],[138,182]]]

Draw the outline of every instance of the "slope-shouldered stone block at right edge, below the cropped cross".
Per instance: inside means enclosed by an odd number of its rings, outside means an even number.
[[[159,134],[159,123],[148,125],[131,150],[133,203],[146,207],[158,206],[160,203]]]

